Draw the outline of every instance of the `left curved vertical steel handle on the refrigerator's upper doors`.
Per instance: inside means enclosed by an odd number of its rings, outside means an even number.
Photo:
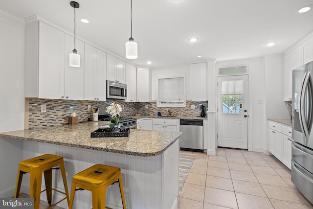
[[[308,130],[308,124],[306,121],[304,108],[305,108],[305,93],[308,87],[309,78],[310,78],[310,71],[306,72],[306,75],[302,84],[302,88],[301,88],[301,93],[300,93],[300,125],[307,139],[309,138],[309,130]]]

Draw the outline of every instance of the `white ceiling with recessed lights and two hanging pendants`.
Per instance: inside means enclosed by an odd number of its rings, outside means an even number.
[[[0,8],[27,18],[38,14],[74,30],[70,0],[0,0]],[[130,0],[77,0],[76,34],[125,57],[130,37]],[[152,68],[283,53],[313,31],[312,0],[133,0],[133,38],[138,59]],[[79,20],[86,18],[89,23]],[[189,43],[190,37],[197,43]],[[277,42],[272,47],[264,46]],[[201,54],[201,58],[197,55]]]

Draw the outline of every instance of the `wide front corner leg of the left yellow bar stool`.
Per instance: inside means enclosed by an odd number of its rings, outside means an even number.
[[[34,198],[34,209],[39,209],[42,172],[30,174],[30,197]]]

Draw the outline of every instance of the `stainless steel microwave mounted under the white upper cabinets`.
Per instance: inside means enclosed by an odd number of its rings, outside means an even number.
[[[108,99],[127,99],[127,85],[115,81],[107,81]]]

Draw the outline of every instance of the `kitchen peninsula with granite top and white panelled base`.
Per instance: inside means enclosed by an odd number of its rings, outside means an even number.
[[[63,156],[68,188],[75,173],[102,163],[121,168],[127,208],[177,208],[181,133],[131,129],[129,137],[90,138],[90,133],[104,124],[87,122],[3,132],[0,139],[21,143],[21,161],[45,153]],[[22,184],[21,191],[28,193],[29,180],[24,178]],[[55,181],[55,185],[63,190],[61,181]],[[45,195],[41,198],[45,200]],[[77,192],[74,204],[75,208],[91,208],[91,193]],[[122,208],[117,184],[107,188],[107,206]]]

